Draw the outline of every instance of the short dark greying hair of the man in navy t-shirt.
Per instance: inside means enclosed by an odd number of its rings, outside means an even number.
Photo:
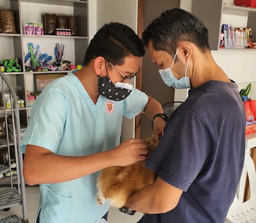
[[[143,32],[143,42],[157,51],[166,51],[175,55],[180,41],[192,42],[201,52],[209,50],[208,30],[193,14],[175,8],[165,10],[154,19]]]

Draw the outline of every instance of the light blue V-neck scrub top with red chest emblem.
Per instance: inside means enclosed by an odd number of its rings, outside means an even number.
[[[122,116],[135,117],[147,101],[145,93],[133,88],[125,100],[115,102],[99,95],[95,105],[79,79],[69,73],[48,84],[35,100],[20,150],[25,153],[30,144],[64,156],[84,156],[112,149],[120,143]],[[41,184],[40,223],[99,220],[109,203],[97,205],[97,176],[98,172]]]

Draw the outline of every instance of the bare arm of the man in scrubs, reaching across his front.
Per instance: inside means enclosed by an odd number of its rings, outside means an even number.
[[[145,160],[147,153],[144,139],[127,139],[112,150],[87,156],[61,156],[40,146],[27,145],[23,174],[29,185],[65,182],[106,167]]]

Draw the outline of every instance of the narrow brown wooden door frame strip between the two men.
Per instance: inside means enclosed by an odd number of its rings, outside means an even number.
[[[141,38],[144,30],[144,0],[138,0],[138,20],[137,20],[137,34]],[[136,75],[136,88],[141,91],[142,89],[142,68],[143,58],[140,59],[138,66],[138,75]],[[135,117],[135,138],[140,138],[140,121],[141,114]]]

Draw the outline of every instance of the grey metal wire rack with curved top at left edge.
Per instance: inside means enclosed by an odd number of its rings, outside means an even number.
[[[23,167],[23,156],[22,153],[19,151],[20,145],[20,116],[19,116],[19,105],[16,96],[16,92],[14,91],[12,85],[10,84],[8,78],[0,71],[0,91],[2,93],[2,107],[1,107],[1,114],[5,118],[5,130],[6,130],[6,137],[0,139],[0,149],[7,148],[8,150],[8,164],[9,166],[0,165],[0,174],[5,174],[6,172],[10,172],[10,177],[7,182],[8,189],[5,189],[0,193],[0,210],[10,208],[16,205],[22,205],[23,211],[23,223],[28,223],[27,215],[26,215],[26,197],[25,197],[25,183],[22,173]],[[5,93],[8,93],[10,99],[10,109],[6,109],[6,98]],[[8,106],[9,107],[9,106]],[[11,118],[12,124],[8,124],[8,117]],[[9,132],[13,132],[13,138],[9,136]],[[12,168],[11,168],[11,148],[14,150],[16,162],[16,170],[17,175],[12,175]],[[3,179],[0,179],[0,182]],[[9,222],[9,221],[4,221]],[[16,222],[16,221],[15,221]]]

